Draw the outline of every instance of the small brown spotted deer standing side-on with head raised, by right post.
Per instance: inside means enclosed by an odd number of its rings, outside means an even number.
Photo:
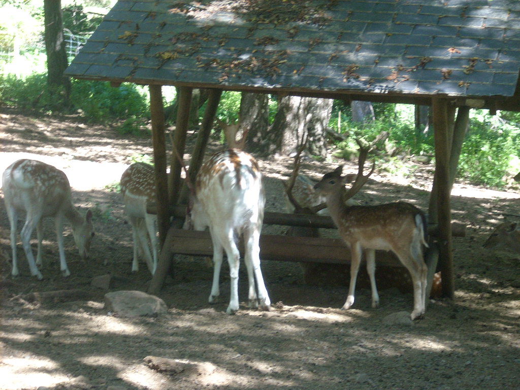
[[[363,175],[368,149],[361,149],[356,180],[345,189],[347,176],[341,176],[342,166],[323,176],[315,189],[326,197],[332,219],[351,252],[350,285],[343,309],[354,304],[354,290],[362,252],[365,252],[367,271],[372,290],[372,307],[379,306],[375,285],[375,250],[392,251],[408,269],[413,283],[413,311],[411,319],[424,315],[427,267],[423,260],[426,243],[426,217],[412,204],[405,202],[375,206],[347,206],[344,199],[352,198],[367,182],[375,168]]]

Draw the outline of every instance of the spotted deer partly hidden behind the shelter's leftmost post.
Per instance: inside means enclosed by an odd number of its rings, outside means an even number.
[[[142,254],[152,275],[158,261],[157,215],[148,214],[146,206],[157,200],[154,177],[153,166],[136,162],[126,168],[120,181],[125,214],[132,226],[134,240],[132,272],[139,270],[139,256]]]

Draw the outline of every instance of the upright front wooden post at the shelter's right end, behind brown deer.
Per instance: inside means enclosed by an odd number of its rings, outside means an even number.
[[[451,238],[451,206],[449,159],[451,141],[449,139],[448,101],[432,99],[433,125],[435,131],[435,177],[437,186],[437,218],[439,225],[439,263],[443,280],[443,295],[454,298],[453,253]]]

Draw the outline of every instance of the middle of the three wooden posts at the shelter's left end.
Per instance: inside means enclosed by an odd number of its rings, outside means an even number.
[[[188,132],[188,124],[190,118],[191,95],[193,88],[180,87],[177,110],[177,124],[175,127],[175,134],[173,137],[173,154],[172,163],[170,167],[170,202],[176,204],[180,194],[180,159],[184,156],[184,149],[186,147],[186,133]]]

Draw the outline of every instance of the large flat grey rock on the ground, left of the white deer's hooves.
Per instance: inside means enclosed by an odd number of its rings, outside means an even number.
[[[105,294],[105,309],[120,317],[157,316],[166,313],[161,298],[142,291],[114,291]]]

